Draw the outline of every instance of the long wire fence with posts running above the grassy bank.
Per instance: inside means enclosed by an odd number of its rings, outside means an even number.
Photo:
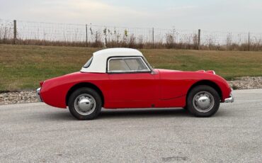
[[[83,47],[262,50],[262,33],[179,30],[175,28],[125,28],[0,19],[0,43]]]

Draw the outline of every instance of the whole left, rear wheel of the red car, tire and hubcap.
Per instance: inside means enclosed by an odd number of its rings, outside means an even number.
[[[69,97],[69,111],[79,120],[92,120],[101,112],[99,94],[90,88],[76,89]]]

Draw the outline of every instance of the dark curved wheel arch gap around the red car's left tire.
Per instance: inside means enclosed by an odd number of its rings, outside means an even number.
[[[68,106],[68,101],[69,101],[70,95],[71,95],[76,89],[83,88],[83,87],[88,87],[88,88],[91,88],[91,89],[94,89],[95,91],[97,91],[98,94],[101,96],[101,99],[102,99],[102,107],[103,107],[103,105],[104,105],[104,103],[105,103],[105,101],[104,101],[104,96],[103,96],[103,92],[101,91],[101,89],[98,88],[98,86],[96,86],[95,84],[89,83],[89,82],[81,82],[81,83],[75,84],[74,86],[71,87],[71,89],[69,89],[69,91],[67,91],[66,106]]]

